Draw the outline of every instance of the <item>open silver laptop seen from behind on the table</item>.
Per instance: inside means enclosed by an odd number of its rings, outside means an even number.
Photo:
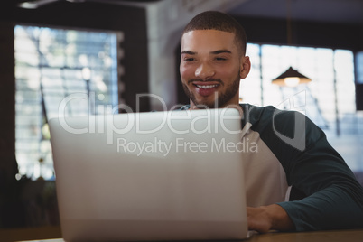
[[[66,241],[247,238],[237,109],[49,122]]]

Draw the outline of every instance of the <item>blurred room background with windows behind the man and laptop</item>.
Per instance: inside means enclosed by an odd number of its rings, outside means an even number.
[[[61,237],[51,117],[189,102],[181,32],[206,10],[246,29],[252,70],[240,102],[309,116],[363,183],[363,1],[3,0],[0,240]],[[289,67],[310,81],[276,85]]]

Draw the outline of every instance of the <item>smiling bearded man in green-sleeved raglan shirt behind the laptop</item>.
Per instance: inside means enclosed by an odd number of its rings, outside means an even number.
[[[258,145],[242,155],[249,229],[363,228],[363,188],[318,126],[298,112],[239,105],[251,67],[246,44],[228,14],[198,14],[181,36],[180,72],[190,98],[181,109],[238,107],[243,139]]]

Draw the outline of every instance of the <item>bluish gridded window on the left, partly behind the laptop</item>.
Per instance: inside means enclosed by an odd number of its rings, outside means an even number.
[[[14,35],[18,178],[53,179],[48,120],[118,103],[117,34],[17,25]]]

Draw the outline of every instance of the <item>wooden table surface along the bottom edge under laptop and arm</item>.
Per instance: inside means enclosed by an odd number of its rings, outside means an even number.
[[[243,242],[362,242],[363,229],[318,232],[257,234]],[[31,242],[31,241],[28,241]],[[33,240],[33,242],[64,242],[63,239]]]

